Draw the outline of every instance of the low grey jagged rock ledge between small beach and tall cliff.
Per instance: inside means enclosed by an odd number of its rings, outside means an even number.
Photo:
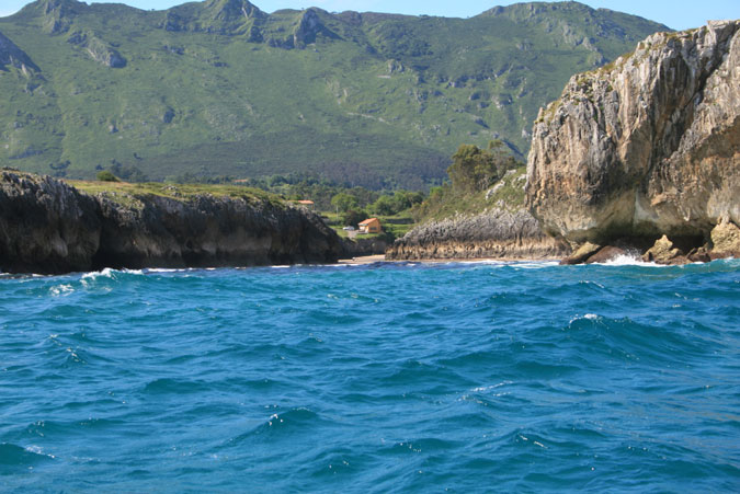
[[[559,259],[570,248],[545,235],[527,211],[493,208],[417,227],[386,251],[389,260]]]

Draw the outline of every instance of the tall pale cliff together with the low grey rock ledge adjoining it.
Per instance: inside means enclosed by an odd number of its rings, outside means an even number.
[[[540,110],[525,207],[423,225],[388,259],[740,257],[740,21],[658,33]]]

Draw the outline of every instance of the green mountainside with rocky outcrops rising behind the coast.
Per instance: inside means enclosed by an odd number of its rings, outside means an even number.
[[[419,187],[460,142],[526,153],[572,73],[665,30],[577,2],[445,19],[38,0],[0,19],[0,162]]]

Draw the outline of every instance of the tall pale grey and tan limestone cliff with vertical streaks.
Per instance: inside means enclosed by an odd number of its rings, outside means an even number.
[[[527,206],[570,241],[740,225],[740,21],[659,33],[540,111]]]

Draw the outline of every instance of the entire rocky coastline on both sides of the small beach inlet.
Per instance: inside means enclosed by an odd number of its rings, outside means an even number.
[[[386,259],[740,257],[738,67],[740,21],[721,21],[573,76],[534,124],[524,206],[421,225]],[[0,181],[2,272],[332,263],[384,248],[265,198],[88,195],[9,170]]]

